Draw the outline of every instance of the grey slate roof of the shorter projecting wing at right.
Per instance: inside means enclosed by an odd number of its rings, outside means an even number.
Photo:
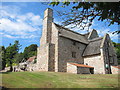
[[[100,45],[102,40],[103,40],[102,37],[89,40],[89,44],[87,45],[83,53],[83,56],[100,54]]]

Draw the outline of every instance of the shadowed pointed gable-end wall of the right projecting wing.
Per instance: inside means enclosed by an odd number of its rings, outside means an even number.
[[[108,34],[105,34],[101,43],[101,59],[104,61],[106,74],[111,74],[111,66],[118,65],[117,56]],[[106,68],[106,65],[108,68]]]

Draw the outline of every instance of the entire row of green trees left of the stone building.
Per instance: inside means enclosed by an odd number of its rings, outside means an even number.
[[[37,55],[37,45],[31,44],[25,47],[23,52],[19,52],[21,45],[18,40],[14,41],[14,44],[9,44],[8,47],[0,46],[0,70],[4,70],[6,66],[10,66],[10,71],[13,70],[13,65],[21,63],[23,60],[27,60],[29,57]]]

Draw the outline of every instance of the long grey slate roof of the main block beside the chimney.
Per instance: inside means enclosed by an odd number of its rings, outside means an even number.
[[[60,26],[58,24],[55,24],[55,25],[59,29],[59,32],[61,33],[59,36],[63,36],[63,37],[69,38],[69,39],[73,39],[75,41],[78,41],[78,42],[81,42],[81,43],[84,43],[84,44],[89,43],[87,38],[84,35],[82,35],[80,33],[77,33],[77,32],[74,32],[74,31],[72,31],[68,28],[65,28],[63,26]]]

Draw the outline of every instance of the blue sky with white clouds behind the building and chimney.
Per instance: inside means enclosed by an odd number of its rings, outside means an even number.
[[[44,10],[47,8],[53,9],[54,22],[61,24],[61,17],[57,11],[69,11],[72,4],[67,7],[49,6],[41,2],[1,2],[0,3],[0,46],[9,46],[15,40],[19,40],[22,45],[20,52],[26,46],[37,44],[40,46],[40,38],[42,35],[42,21]],[[68,26],[69,28],[69,26]],[[94,20],[90,30],[96,29],[100,36],[109,33],[112,41],[118,42],[118,35],[112,34],[112,31],[118,30],[118,25],[114,24],[108,27],[105,22]],[[73,28],[73,31],[86,33],[78,27]],[[109,32],[108,32],[109,31]]]

